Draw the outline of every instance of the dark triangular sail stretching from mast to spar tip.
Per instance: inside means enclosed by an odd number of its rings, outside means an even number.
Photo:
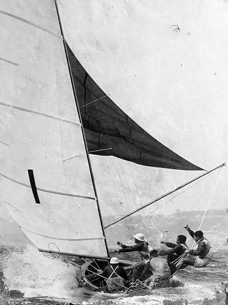
[[[128,117],[88,75],[69,46],[67,50],[89,152],[151,167],[202,170]]]

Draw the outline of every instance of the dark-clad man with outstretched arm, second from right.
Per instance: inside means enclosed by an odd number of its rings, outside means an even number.
[[[187,238],[185,235],[178,235],[175,244],[172,242],[161,242],[161,244],[164,244],[168,248],[171,248],[169,250],[160,250],[158,252],[159,256],[168,255],[167,262],[171,269],[171,275],[176,270],[176,266],[172,264],[172,262],[176,261],[178,257],[185,253],[185,250],[189,250],[188,245],[186,244],[186,239]]]

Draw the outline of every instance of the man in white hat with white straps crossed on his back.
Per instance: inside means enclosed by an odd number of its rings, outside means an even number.
[[[117,257],[111,258],[110,265],[106,266],[100,275],[107,278],[107,291],[123,290],[123,286],[128,285],[126,271],[119,266]]]

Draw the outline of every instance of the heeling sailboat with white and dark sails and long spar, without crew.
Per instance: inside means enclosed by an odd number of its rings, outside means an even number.
[[[89,154],[203,169],[144,131],[93,81],[64,39],[56,1],[2,0],[1,46],[2,200],[40,252],[79,257],[79,283],[100,289],[89,275],[110,253]],[[122,265],[130,276],[131,265]]]

